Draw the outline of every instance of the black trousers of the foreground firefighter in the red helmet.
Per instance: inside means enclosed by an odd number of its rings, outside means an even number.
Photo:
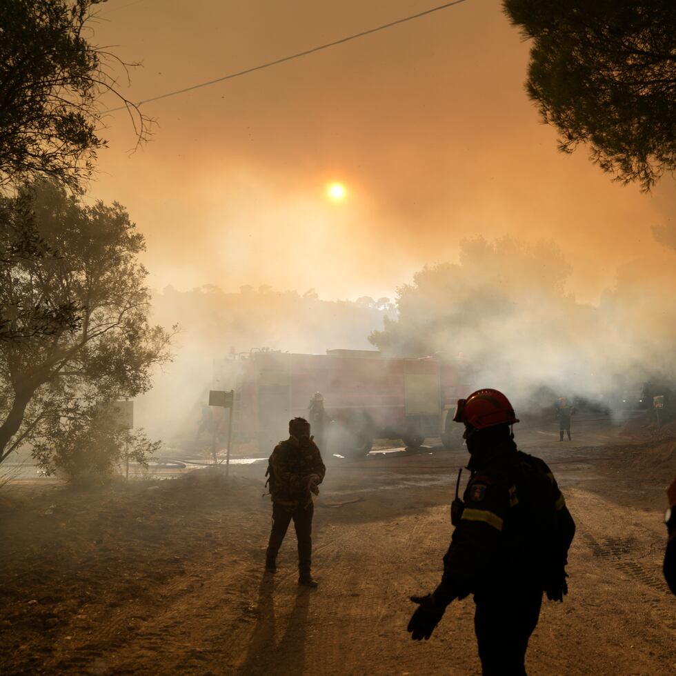
[[[484,676],[524,676],[528,639],[540,615],[541,590],[476,595],[475,602],[474,628],[481,673]]]

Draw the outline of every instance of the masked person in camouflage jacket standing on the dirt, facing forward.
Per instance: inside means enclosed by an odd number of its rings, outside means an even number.
[[[319,448],[310,437],[310,423],[304,418],[289,421],[289,438],[280,441],[270,455],[268,483],[272,499],[272,531],[266,551],[266,570],[277,571],[277,552],[291,521],[298,539],[298,584],[316,587],[312,579],[312,495],[319,495],[319,484],[326,468]]]

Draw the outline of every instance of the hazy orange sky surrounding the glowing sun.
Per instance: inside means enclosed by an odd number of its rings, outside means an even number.
[[[111,0],[94,41],[142,61],[133,100],[220,77],[435,5],[435,0]],[[524,92],[528,45],[500,3],[468,0],[304,59],[148,103],[143,150],[107,118],[90,195],[123,203],[150,283],[270,284],[321,297],[395,295],[463,237],[553,239],[570,290],[596,301],[655,243],[673,197],[559,153]],[[112,101],[110,101],[112,104]],[[326,183],[348,189],[326,199]]]

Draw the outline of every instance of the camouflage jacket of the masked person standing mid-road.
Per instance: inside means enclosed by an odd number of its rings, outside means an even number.
[[[270,455],[270,497],[273,502],[288,507],[305,507],[312,501],[310,475],[317,475],[321,484],[326,467],[314,441],[305,448],[295,437],[280,441]]]

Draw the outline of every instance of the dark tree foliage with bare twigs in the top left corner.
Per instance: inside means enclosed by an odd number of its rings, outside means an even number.
[[[116,89],[110,52],[86,36],[103,0],[0,3],[0,186],[49,175],[75,187],[90,175],[100,136],[99,97],[130,111],[139,140],[149,120]]]

